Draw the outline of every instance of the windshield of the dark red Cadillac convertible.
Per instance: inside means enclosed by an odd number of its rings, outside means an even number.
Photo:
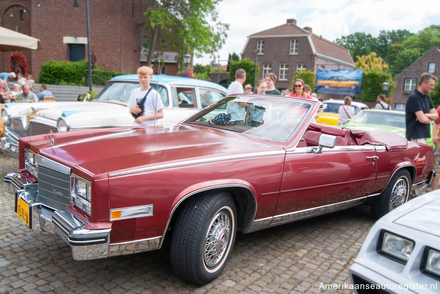
[[[311,108],[312,104],[306,100],[303,102],[258,96],[229,96],[183,123],[286,142]]]

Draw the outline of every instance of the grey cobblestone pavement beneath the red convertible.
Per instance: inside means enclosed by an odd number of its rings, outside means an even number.
[[[224,272],[198,287],[175,275],[166,245],[141,254],[74,261],[64,241],[31,231],[14,213],[3,177],[17,167],[17,159],[0,155],[0,293],[323,293],[321,283],[350,283],[348,267],[374,223],[369,207],[356,207],[238,233]]]

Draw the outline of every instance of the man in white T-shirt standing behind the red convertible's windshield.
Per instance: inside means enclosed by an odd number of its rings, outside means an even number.
[[[243,94],[243,83],[246,80],[246,70],[237,69],[235,81],[229,84],[226,94]],[[231,113],[231,122],[244,125],[246,115],[246,102],[227,102],[226,112]]]

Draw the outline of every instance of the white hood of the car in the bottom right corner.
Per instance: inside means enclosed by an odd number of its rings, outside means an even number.
[[[405,206],[409,206],[413,203],[413,205],[416,205],[416,208],[412,206],[411,210],[406,211],[404,214],[399,214],[399,217],[393,222],[440,237],[440,218],[438,218],[440,215],[440,197],[438,192],[436,192],[436,194],[432,193],[433,192],[429,193],[431,195],[427,195],[427,197],[423,195],[409,201]],[[422,205],[417,207],[417,204],[422,200],[425,201]]]

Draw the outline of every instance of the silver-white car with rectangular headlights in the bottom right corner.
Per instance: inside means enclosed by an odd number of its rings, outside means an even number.
[[[440,190],[380,218],[349,274],[358,294],[440,293]]]

